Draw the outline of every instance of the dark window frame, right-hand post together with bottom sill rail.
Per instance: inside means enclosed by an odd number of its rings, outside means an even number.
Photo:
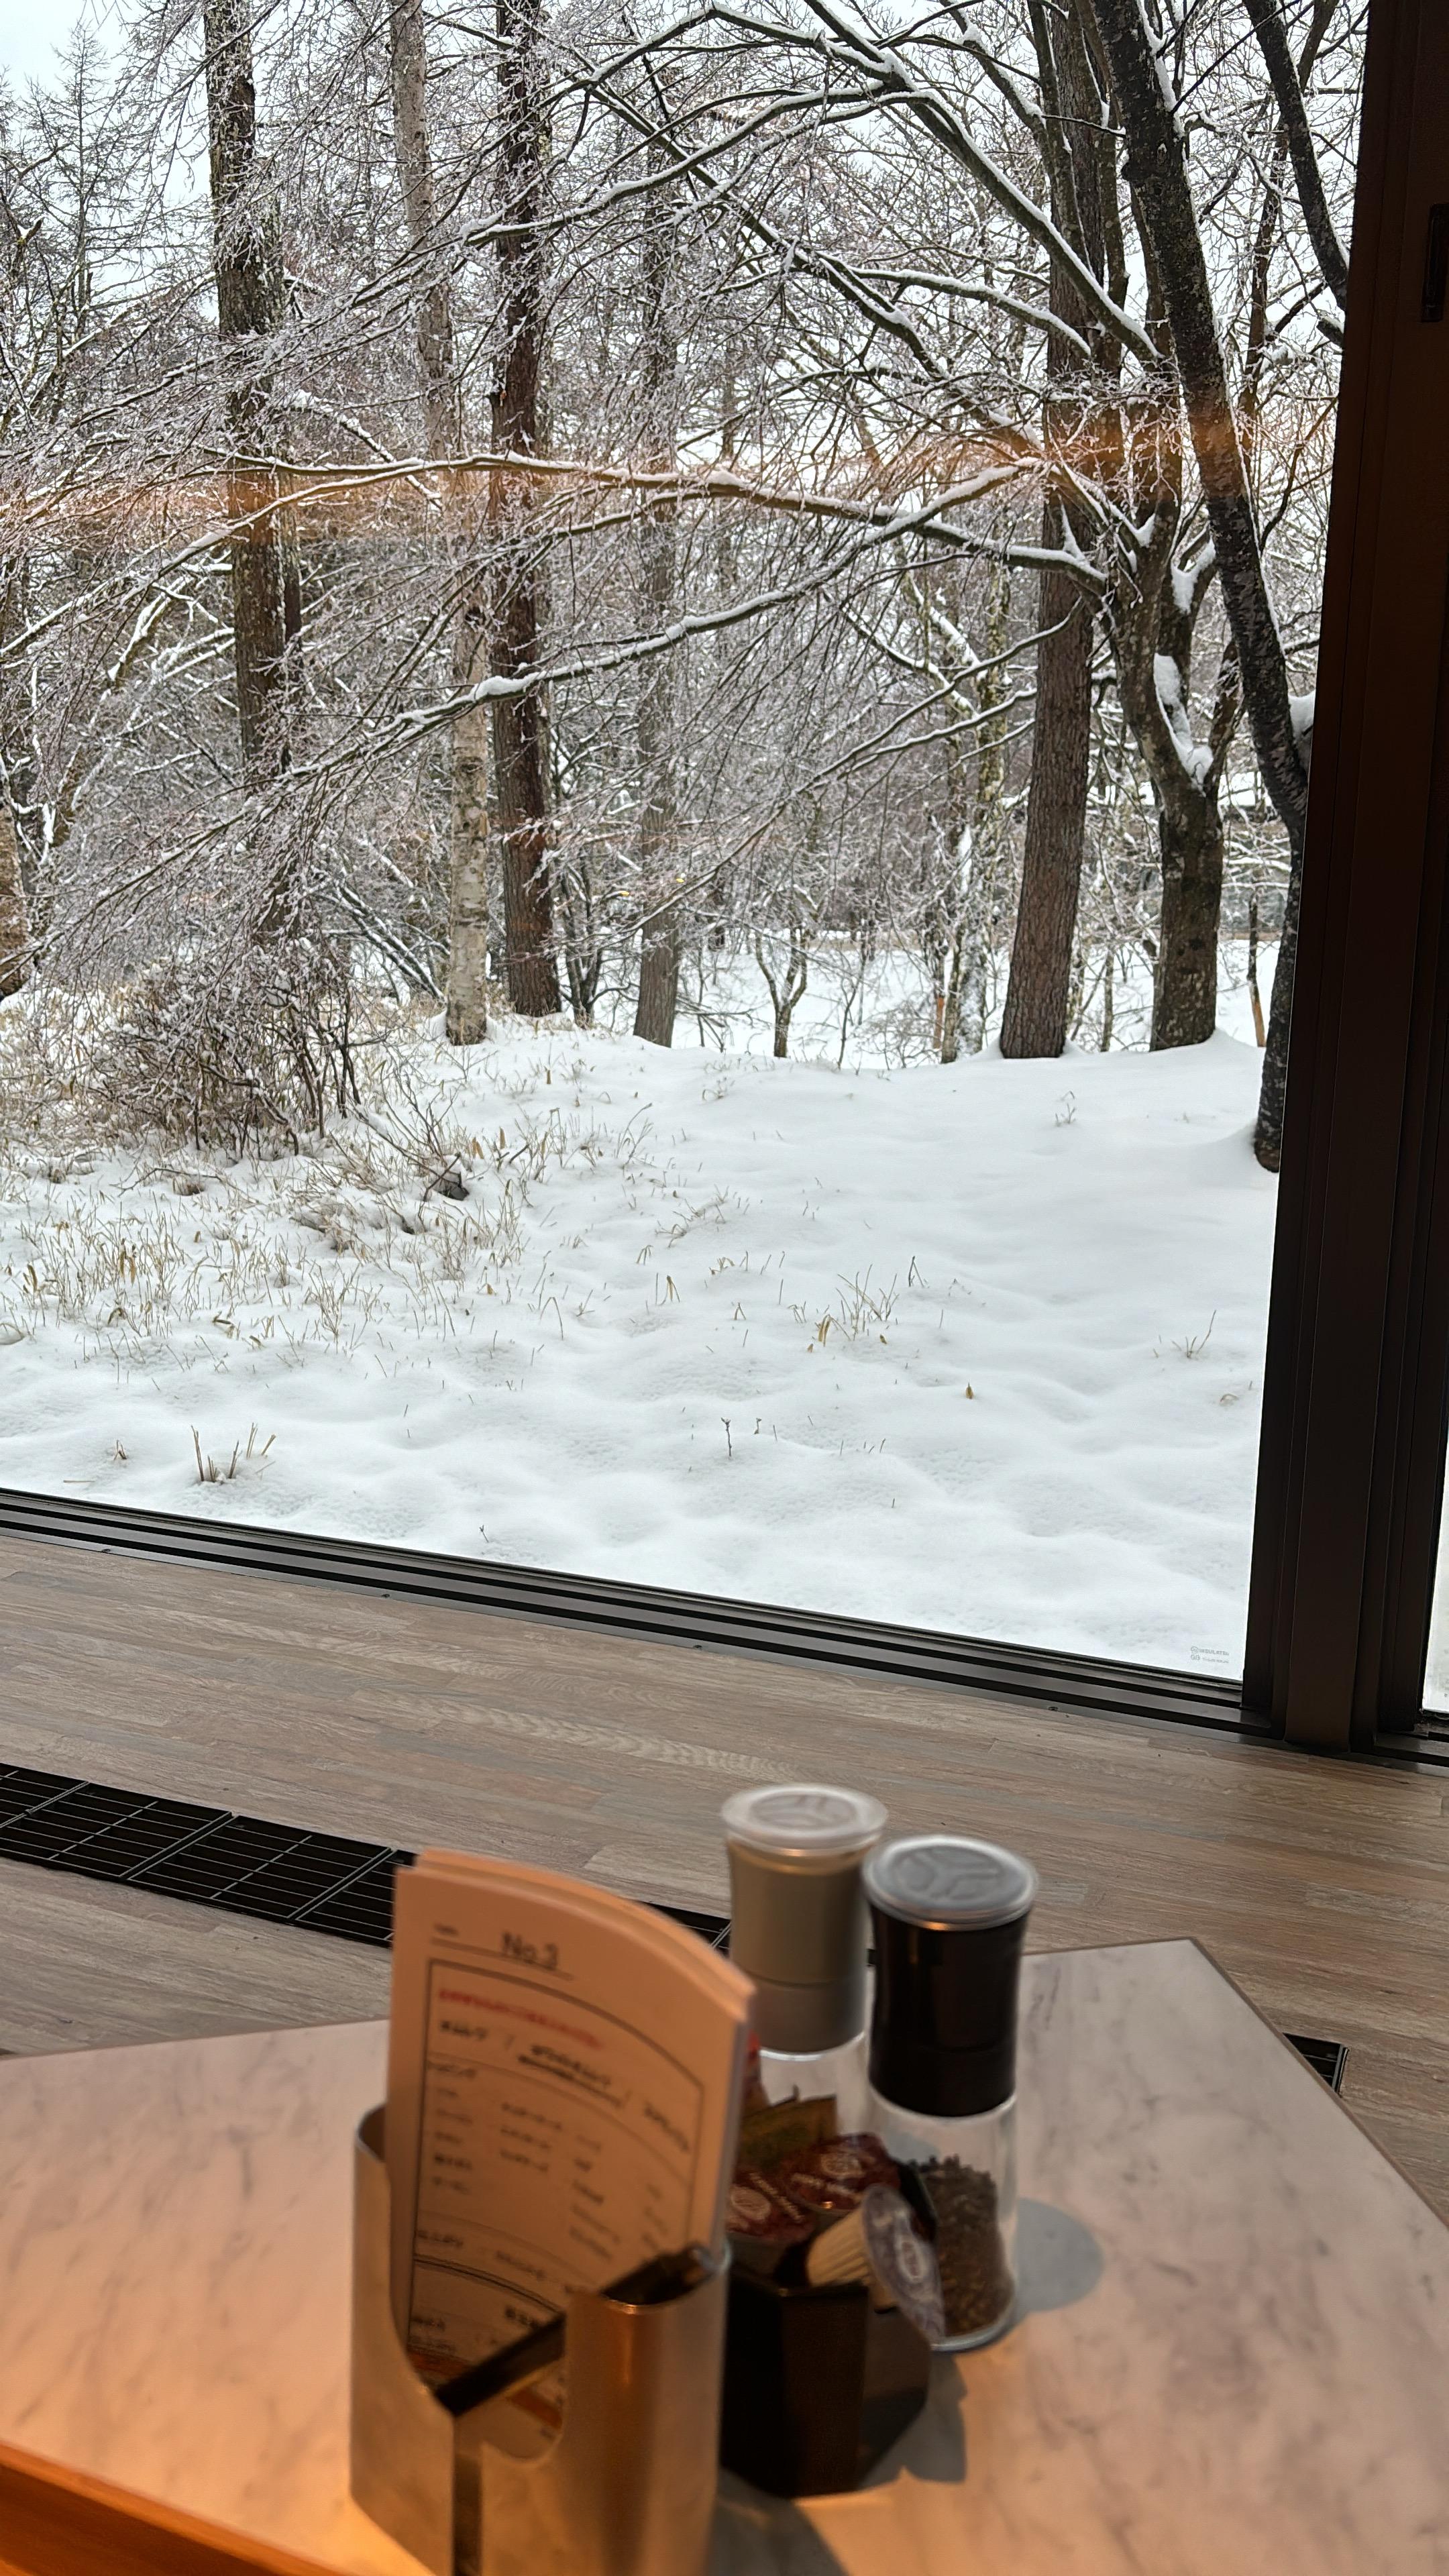
[[[1413,1726],[1449,1427],[1446,103],[1444,0],[1369,0],[1243,1685],[44,1494],[0,1492],[0,1530],[1434,1757]]]

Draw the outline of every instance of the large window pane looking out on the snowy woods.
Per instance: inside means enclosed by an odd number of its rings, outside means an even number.
[[[3,28],[3,1481],[1238,1672],[1361,8]]]

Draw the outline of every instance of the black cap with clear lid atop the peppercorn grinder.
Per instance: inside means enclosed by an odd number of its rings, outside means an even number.
[[[1016,2092],[1016,1989],[1036,1870],[993,1842],[910,1834],[866,1860],[871,2089],[972,2117]]]

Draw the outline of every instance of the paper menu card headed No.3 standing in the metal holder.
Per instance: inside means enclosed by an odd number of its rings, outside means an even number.
[[[449,2378],[652,2254],[722,2249],[753,1986],[668,1917],[552,1870],[397,1875],[392,2303]]]

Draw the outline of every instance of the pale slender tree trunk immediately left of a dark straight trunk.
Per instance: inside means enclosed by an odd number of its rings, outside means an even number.
[[[387,33],[397,180],[420,278],[415,343],[423,428],[428,456],[441,459],[459,453],[464,420],[454,307],[449,278],[438,265],[423,0],[392,0]],[[446,556],[467,582],[467,505],[454,474],[443,474],[441,505]],[[480,587],[467,585],[454,629],[454,688],[472,688],[482,675],[485,631],[487,605]],[[449,963],[443,979],[449,1046],[477,1046],[480,1038],[487,1038],[487,708],[469,706],[454,719],[449,742]]]

